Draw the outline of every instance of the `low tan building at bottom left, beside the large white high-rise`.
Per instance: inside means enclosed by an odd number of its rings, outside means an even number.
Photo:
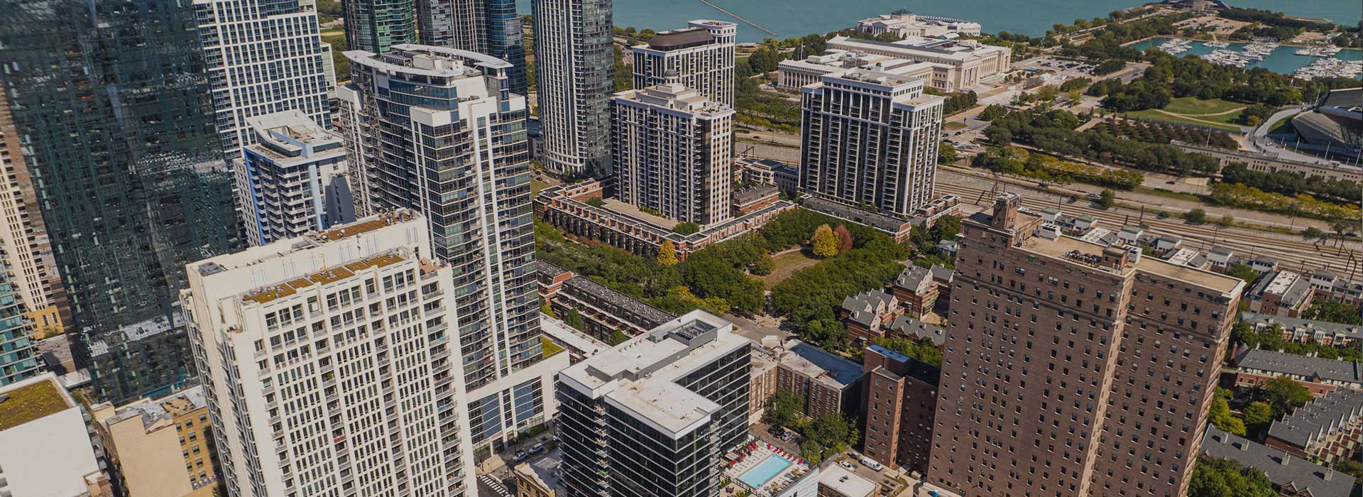
[[[213,496],[218,478],[202,387],[119,407],[95,404],[91,415],[121,487],[129,494]]]

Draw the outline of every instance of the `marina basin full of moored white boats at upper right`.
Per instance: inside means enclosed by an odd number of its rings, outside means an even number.
[[[1176,38],[1167,37],[1150,38],[1131,44],[1131,48],[1138,50],[1145,50],[1148,48],[1164,50],[1164,46],[1175,39]],[[1191,39],[1179,39],[1179,44],[1168,46],[1180,48],[1182,50],[1175,53],[1178,56],[1191,54],[1214,64],[1235,65],[1246,69],[1262,67],[1277,74],[1296,75],[1306,79],[1328,76],[1359,78],[1356,68],[1358,63],[1363,61],[1363,50],[1341,50],[1333,46],[1288,46],[1278,44]],[[1303,52],[1310,52],[1311,54]]]

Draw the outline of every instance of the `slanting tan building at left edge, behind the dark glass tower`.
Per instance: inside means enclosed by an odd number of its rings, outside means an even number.
[[[5,95],[0,95],[0,251],[12,274],[10,280],[33,319],[34,334],[61,334],[71,323],[71,309]]]

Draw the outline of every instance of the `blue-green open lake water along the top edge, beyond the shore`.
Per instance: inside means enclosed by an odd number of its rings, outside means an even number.
[[[530,0],[517,0],[530,12]],[[729,12],[776,31],[780,38],[803,37],[852,27],[857,20],[900,8],[979,22],[985,33],[1041,35],[1055,23],[1107,16],[1141,0],[710,0]],[[1229,0],[1236,7],[1268,8],[1288,15],[1325,18],[1341,25],[1363,19],[1359,0]],[[691,19],[733,20],[699,0],[615,0],[615,25],[668,30]],[[762,41],[767,34],[739,23],[739,41]]]

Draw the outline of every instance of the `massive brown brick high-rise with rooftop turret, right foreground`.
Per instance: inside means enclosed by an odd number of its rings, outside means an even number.
[[[928,482],[968,497],[1183,496],[1239,279],[965,221]]]

